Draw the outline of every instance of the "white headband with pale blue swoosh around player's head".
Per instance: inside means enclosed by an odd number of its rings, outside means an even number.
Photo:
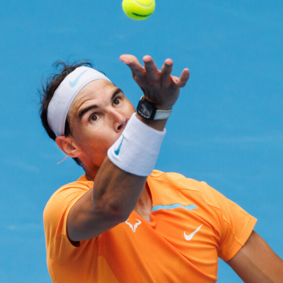
[[[60,83],[47,108],[47,121],[56,137],[64,135],[66,117],[77,94],[87,83],[99,79],[110,81],[99,71],[81,66]]]

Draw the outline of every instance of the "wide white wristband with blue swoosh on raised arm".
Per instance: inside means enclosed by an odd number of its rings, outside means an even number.
[[[155,130],[132,115],[120,138],[108,149],[117,167],[138,176],[152,173],[166,130]]]

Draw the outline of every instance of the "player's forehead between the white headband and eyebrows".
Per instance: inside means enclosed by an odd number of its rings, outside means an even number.
[[[87,107],[90,104],[101,104],[105,99],[111,96],[117,87],[110,81],[99,79],[87,83],[73,100],[68,116],[76,116],[81,107]]]

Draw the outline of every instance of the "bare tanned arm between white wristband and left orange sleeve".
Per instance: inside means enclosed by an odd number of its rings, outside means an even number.
[[[125,172],[106,157],[93,188],[69,212],[69,239],[78,242],[95,238],[125,221],[134,209],[145,181],[146,177]]]

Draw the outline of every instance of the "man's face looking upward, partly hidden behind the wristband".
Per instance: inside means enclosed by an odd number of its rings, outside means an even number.
[[[81,148],[79,159],[87,167],[100,167],[134,112],[133,104],[110,81],[86,84],[68,112],[73,142]]]

